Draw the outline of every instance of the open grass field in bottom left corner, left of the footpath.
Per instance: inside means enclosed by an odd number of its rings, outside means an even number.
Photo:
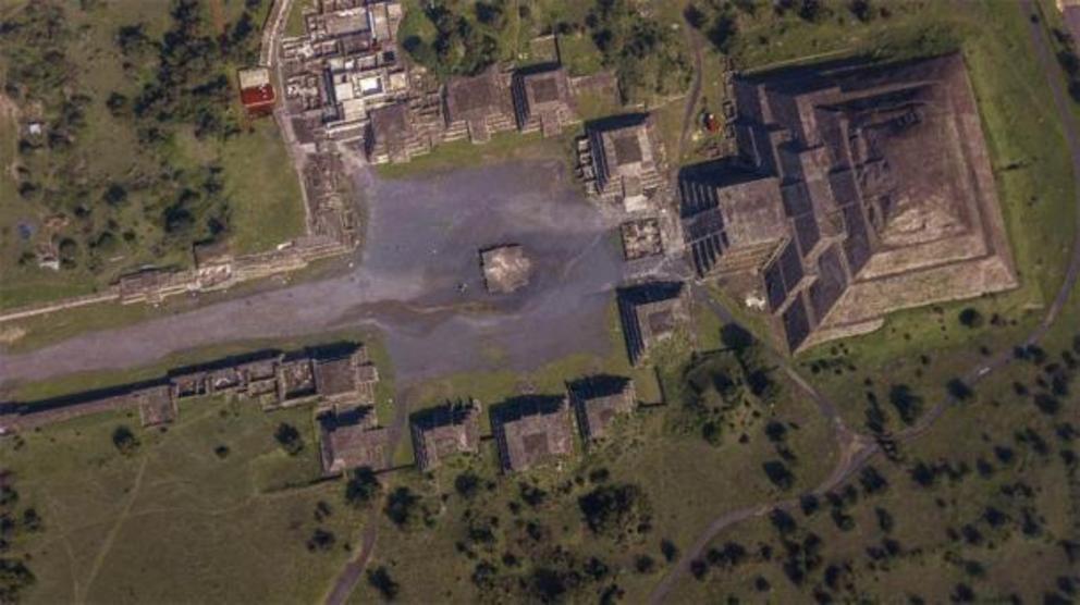
[[[289,456],[274,442],[281,422],[305,443]],[[121,455],[110,435],[132,427],[142,442]],[[338,482],[319,477],[310,408],[265,413],[254,404],[184,404],[168,431],[142,431],[112,413],[7,440],[4,468],[20,502],[45,531],[16,541],[37,578],[28,603],[315,602],[348,556],[364,516]],[[228,455],[216,454],[220,446]],[[286,487],[286,484],[307,485]],[[316,521],[316,504],[332,515]],[[316,527],[328,552],[305,546]]]

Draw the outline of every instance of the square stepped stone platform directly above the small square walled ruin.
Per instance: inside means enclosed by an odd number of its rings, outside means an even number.
[[[587,188],[627,212],[650,209],[664,190],[663,151],[649,115],[623,115],[588,124],[582,153]]]

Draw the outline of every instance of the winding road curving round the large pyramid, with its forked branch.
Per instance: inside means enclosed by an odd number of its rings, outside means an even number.
[[[1054,301],[1050,307],[1047,307],[1046,313],[1043,316],[1042,321],[1040,321],[1039,325],[1026,338],[1024,343],[1031,345],[1041,341],[1054,322],[1057,321],[1057,318],[1060,316],[1061,310],[1068,302],[1069,297],[1076,295],[1075,291],[1078,276],[1080,276],[1080,128],[1077,127],[1076,114],[1072,110],[1071,101],[1066,94],[1065,85],[1061,82],[1061,74],[1057,62],[1054,59],[1054,53],[1050,48],[1048,40],[1046,39],[1046,32],[1043,29],[1042,20],[1032,21],[1028,18],[1029,15],[1035,14],[1031,0],[1021,0],[1020,8],[1023,13],[1022,17],[1029,24],[1029,34],[1031,35],[1038,52],[1039,64],[1042,67],[1044,76],[1050,82],[1051,88],[1053,89],[1054,106],[1057,109],[1065,126],[1065,138],[1071,157],[1072,174],[1075,178],[1075,197],[1077,207],[1076,232],[1072,240],[1072,251],[1065,272],[1065,279],[1057,291],[1057,295],[1054,297]],[[721,308],[716,311],[721,318],[727,319],[728,321],[731,320],[731,313],[728,313],[726,309]],[[973,385],[991,376],[995,371],[1004,368],[1011,361],[1011,351],[1001,353],[993,357],[990,361],[971,368],[971,370],[965,374],[964,380],[968,384]],[[787,373],[796,382],[796,384],[799,385],[800,388],[811,396],[817,404],[819,411],[834,424],[834,435],[836,436],[840,448],[840,459],[833,469],[833,472],[830,473],[829,478],[813,490],[814,494],[825,494],[835,490],[848,478],[858,472],[879,452],[881,452],[881,447],[869,437],[848,430],[844,425],[843,420],[840,420],[836,406],[821,396],[821,394],[817,393],[817,391],[813,390],[809,383],[802,380],[802,378],[799,376],[788,363],[783,362],[782,368],[785,373]],[[895,440],[899,443],[909,443],[922,436],[930,430],[934,422],[941,418],[942,415],[944,415],[945,410],[955,404],[956,400],[953,398],[940,402],[931,410],[923,415],[923,417],[920,418],[913,427],[897,433],[894,436]],[[742,521],[768,515],[775,508],[787,509],[794,507],[797,503],[798,501],[796,498],[770,502],[727,511],[713,519],[704,531],[701,532],[694,545],[688,548],[678,560],[675,567],[672,568],[672,570],[661,580],[660,584],[656,585],[650,595],[650,603],[663,603],[671,594],[671,591],[675,588],[675,583],[689,571],[690,564],[695,559],[702,556],[704,550],[721,532]]]

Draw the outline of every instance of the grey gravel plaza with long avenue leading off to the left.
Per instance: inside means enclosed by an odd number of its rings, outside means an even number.
[[[605,311],[623,276],[617,242],[559,162],[408,181],[364,172],[356,180],[370,200],[368,239],[363,262],[347,274],[0,355],[0,383],[348,326],[378,328],[405,381],[608,353]],[[478,249],[510,243],[530,256],[532,281],[512,295],[489,295]]]

